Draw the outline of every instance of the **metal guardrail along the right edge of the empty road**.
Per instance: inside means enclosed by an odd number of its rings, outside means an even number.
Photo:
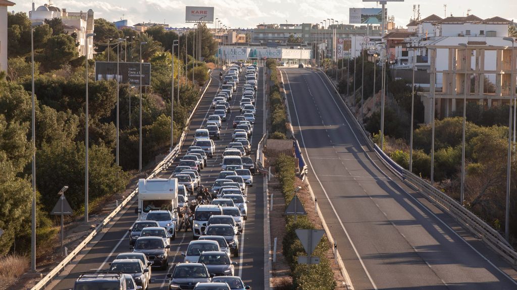
[[[330,84],[333,84],[325,72],[320,69],[317,70],[325,75]],[[371,140],[370,136],[367,135],[366,130],[364,130],[364,128],[359,124],[357,119],[352,114],[352,111],[341,99],[341,96],[336,87],[332,85],[332,88],[338,95],[338,99],[346,108],[347,114],[352,117],[351,119],[354,120],[354,125],[356,125],[356,127],[359,129],[358,131],[361,132],[361,135],[367,141],[368,146],[373,149],[381,162],[383,162],[389,170],[398,175],[399,178],[406,181],[408,184],[418,188],[424,197],[434,201],[440,208],[449,212],[455,220],[460,222],[465,228],[481,238],[486,243],[486,245],[503,256],[503,258],[510,264],[517,266],[517,252],[510,246],[508,241],[506,241],[499,232],[497,232],[494,228],[492,228],[489,224],[484,222],[474,213],[467,210],[467,208],[462,206],[459,202],[455,201],[444,192],[432,186],[427,181],[421,179],[413,172],[409,172],[394,162]]]

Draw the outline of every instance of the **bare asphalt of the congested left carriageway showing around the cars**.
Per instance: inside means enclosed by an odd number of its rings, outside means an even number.
[[[227,115],[227,122],[223,122],[221,126],[221,139],[215,140],[216,143],[216,154],[213,158],[208,158],[207,166],[201,171],[202,184],[204,186],[211,186],[216,180],[217,175],[221,169],[219,163],[221,162],[221,153],[226,147],[227,143],[232,140],[233,132],[233,118],[239,115],[239,100],[240,92],[242,90],[242,84],[244,83],[244,75],[240,75],[240,85],[238,86],[237,92],[234,93],[234,98],[230,102],[232,105],[231,113]],[[262,138],[265,128],[263,127],[263,105],[264,105],[264,90],[263,90],[263,68],[260,68],[258,74],[258,90],[256,96],[256,120],[252,135],[252,155],[255,158],[258,141]],[[185,140],[184,146],[181,148],[181,152],[177,159],[185,154],[188,147],[193,142],[194,131],[200,128],[204,123],[208,115],[213,112],[210,107],[211,101],[214,98],[219,87],[219,71],[215,71],[212,76],[212,83],[206,91],[203,100],[197,108],[195,115],[191,121],[189,127],[189,133]],[[180,97],[181,98],[181,97]],[[160,178],[169,178],[172,171],[177,164],[177,160],[173,166],[162,172]],[[251,286],[254,289],[260,289],[264,284],[264,188],[262,176],[255,175],[253,178],[253,187],[247,188],[248,200],[248,219],[245,221],[244,231],[239,236],[240,242],[240,255],[237,258],[233,258],[238,265],[235,268],[235,275],[242,278],[246,285]],[[138,217],[134,213],[136,208],[136,202],[134,202],[129,210],[124,213],[113,225],[113,227],[104,234],[100,241],[95,244],[92,249],[86,254],[77,265],[74,266],[68,276],[62,279],[52,289],[54,290],[65,290],[73,288],[74,281],[79,276],[79,273],[92,270],[108,269],[109,263],[113,261],[117,254],[123,252],[129,252],[129,237],[128,229],[131,227],[133,222]],[[151,284],[149,289],[168,289],[169,279],[166,278],[166,274],[172,272],[174,265],[178,262],[183,262],[182,251],[187,250],[189,242],[192,240],[192,231],[188,232],[181,231],[176,235],[176,239],[171,244],[170,256],[169,256],[169,270],[160,271],[157,269],[152,270]]]

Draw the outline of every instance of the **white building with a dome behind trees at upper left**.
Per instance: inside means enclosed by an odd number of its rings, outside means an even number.
[[[0,0],[3,1],[3,0]],[[64,29],[68,34],[76,33],[79,46],[77,50],[80,56],[85,53],[86,35],[94,32],[94,11],[88,12],[68,12],[65,8],[61,9],[44,4],[29,11],[29,18],[32,23],[42,23],[45,19],[60,18],[63,21]],[[93,58],[93,38],[88,38],[88,59]]]

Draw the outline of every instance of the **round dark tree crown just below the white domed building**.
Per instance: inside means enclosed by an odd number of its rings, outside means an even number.
[[[69,35],[59,34],[49,38],[43,53],[37,58],[46,70],[55,70],[78,55],[75,40]]]

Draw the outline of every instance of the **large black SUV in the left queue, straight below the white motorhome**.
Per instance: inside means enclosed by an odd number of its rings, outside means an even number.
[[[169,245],[161,237],[140,237],[136,239],[133,252],[144,253],[154,267],[166,270],[169,266]]]

